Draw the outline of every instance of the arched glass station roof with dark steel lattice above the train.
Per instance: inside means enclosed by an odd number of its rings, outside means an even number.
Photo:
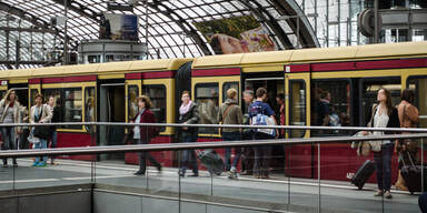
[[[31,64],[34,59],[49,61],[50,54],[61,49],[66,37],[70,40],[71,50],[76,50],[81,41],[98,39],[100,17],[103,12],[137,14],[139,41],[148,41],[151,59],[215,54],[195,23],[244,16],[254,16],[268,31],[278,50],[319,47],[314,30],[294,0],[147,1],[67,0],[66,36],[62,26],[51,24],[53,17],[63,16],[64,0],[2,0],[0,69],[14,68],[13,63],[6,65],[2,61],[14,59],[17,40],[21,42],[21,64],[24,64],[24,61]],[[135,2],[135,6],[126,9],[129,2]],[[111,7],[112,3],[121,8]],[[148,14],[148,40],[145,39],[146,14]],[[296,36],[297,28],[300,30],[299,39]],[[9,36],[6,33],[7,30],[10,31]],[[6,44],[7,40],[9,44]],[[34,41],[40,42],[39,50],[34,50]]]

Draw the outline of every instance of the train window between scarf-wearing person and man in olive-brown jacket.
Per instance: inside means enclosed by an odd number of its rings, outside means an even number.
[[[218,124],[218,83],[198,83],[196,84],[196,103],[199,106],[200,124]],[[217,129],[199,128],[200,133],[216,134]]]

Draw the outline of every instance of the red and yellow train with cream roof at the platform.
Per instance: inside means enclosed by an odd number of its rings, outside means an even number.
[[[239,91],[239,103],[247,112],[242,91],[264,87],[272,108],[277,106],[275,98],[284,94],[287,125],[318,125],[316,102],[320,93],[328,92],[338,125],[342,126],[366,124],[379,88],[391,91],[394,104],[399,102],[400,91],[409,88],[416,93],[419,126],[427,126],[425,41],[6,70],[0,72],[0,94],[14,89],[21,104],[28,108],[34,104],[37,93],[44,98],[54,95],[61,101],[63,122],[129,122],[136,112],[137,97],[147,94],[152,100],[157,122],[176,123],[180,92],[187,90],[202,111],[200,123],[218,123],[216,111],[226,100],[228,89]],[[178,130],[163,128],[152,143],[177,142],[177,133]],[[126,130],[118,126],[61,126],[58,148],[117,145],[122,144],[125,134]],[[292,130],[286,132],[286,138],[348,134]],[[217,129],[199,130],[198,141],[219,140]],[[166,166],[176,166],[172,152],[156,152],[155,158]],[[322,180],[346,180],[348,172],[356,171],[371,156],[357,156],[349,143],[341,143],[288,145],[275,149],[272,158],[272,169],[282,169],[288,176],[317,179],[320,174]],[[99,158],[103,159],[138,163],[133,153]]]

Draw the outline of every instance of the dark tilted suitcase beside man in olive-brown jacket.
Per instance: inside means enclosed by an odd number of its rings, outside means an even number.
[[[199,151],[196,150],[196,154],[200,162],[208,169],[210,175],[221,175],[225,164],[219,154],[214,150]]]

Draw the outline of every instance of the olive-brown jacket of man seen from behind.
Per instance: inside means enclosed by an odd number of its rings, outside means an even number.
[[[226,114],[226,111],[227,111],[227,114]],[[241,109],[238,102],[234,99],[227,99],[226,102],[224,102],[219,106],[217,120],[222,124],[242,124],[244,114],[241,112]],[[224,128],[222,132],[239,132],[239,129]]]

